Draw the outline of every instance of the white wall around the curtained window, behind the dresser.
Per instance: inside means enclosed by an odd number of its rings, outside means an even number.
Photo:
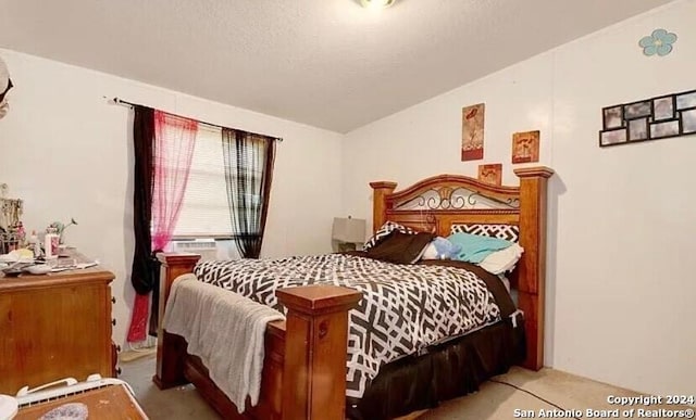
[[[0,182],[24,199],[29,231],[77,220],[67,242],[116,275],[116,343],[125,341],[134,293],[134,157],[132,113],[105,98],[283,137],[262,255],[331,252],[331,224],[340,211],[340,135],[18,52],[0,50],[0,56],[15,85],[0,120]]]

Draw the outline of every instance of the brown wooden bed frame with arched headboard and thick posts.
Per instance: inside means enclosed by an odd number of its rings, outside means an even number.
[[[538,370],[544,364],[544,306],[546,259],[546,191],[554,171],[547,167],[515,169],[519,187],[497,187],[476,179],[440,175],[394,192],[395,182],[371,182],[373,230],[386,220],[448,236],[453,224],[517,225],[524,254],[510,280],[518,289],[524,313],[526,358],[523,366]],[[468,191],[463,198],[458,191]],[[427,195],[430,194],[430,195]],[[477,208],[477,201],[495,208]],[[418,208],[409,207],[418,204]],[[473,205],[473,208],[472,208]],[[186,353],[183,338],[162,328],[164,308],[174,280],[191,272],[195,254],[159,254],[160,326],[157,372],[160,389],[194,383],[209,404],[226,419],[345,418],[348,311],[361,294],[352,289],[309,285],[276,292],[288,309],[285,321],[269,323],[259,404],[238,413],[234,404],[210,380],[208,370]]]

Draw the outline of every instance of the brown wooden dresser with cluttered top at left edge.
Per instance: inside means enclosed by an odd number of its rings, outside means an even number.
[[[115,376],[113,279],[99,268],[0,277],[0,394],[67,377]]]

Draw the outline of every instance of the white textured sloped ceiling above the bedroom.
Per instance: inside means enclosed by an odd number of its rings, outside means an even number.
[[[0,47],[347,132],[668,0],[0,0]]]

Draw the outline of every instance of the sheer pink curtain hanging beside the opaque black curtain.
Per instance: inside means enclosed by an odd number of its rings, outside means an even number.
[[[196,120],[154,111],[152,220],[150,220],[153,252],[164,250],[172,240],[186,191],[197,130],[198,122]],[[158,289],[156,288],[156,291]],[[127,336],[129,343],[146,339],[151,294],[135,295]],[[159,296],[152,297],[152,317],[157,318]],[[150,326],[152,324],[157,324],[157,319],[151,320]]]

